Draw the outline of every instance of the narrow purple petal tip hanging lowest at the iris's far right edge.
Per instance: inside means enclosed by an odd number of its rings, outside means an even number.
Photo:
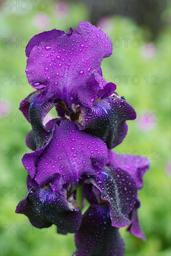
[[[138,220],[138,208],[140,207],[140,202],[137,198],[137,201],[132,209],[132,212],[129,214],[129,217],[132,221],[131,225],[129,226],[128,230],[133,236],[137,236],[141,238],[143,241],[146,241],[146,238],[141,230],[139,220]]]

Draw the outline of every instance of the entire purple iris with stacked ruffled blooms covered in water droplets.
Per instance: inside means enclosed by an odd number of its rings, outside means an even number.
[[[55,224],[59,233],[75,233],[75,256],[124,255],[125,226],[145,240],[137,190],[149,162],[112,151],[136,113],[102,76],[101,61],[111,54],[111,40],[86,21],[68,34],[35,35],[26,47],[26,74],[36,91],[20,110],[32,126],[26,145],[33,152],[22,159],[28,194],[16,212],[37,228]],[[44,126],[53,107],[60,118]],[[84,199],[90,207],[82,216]]]

